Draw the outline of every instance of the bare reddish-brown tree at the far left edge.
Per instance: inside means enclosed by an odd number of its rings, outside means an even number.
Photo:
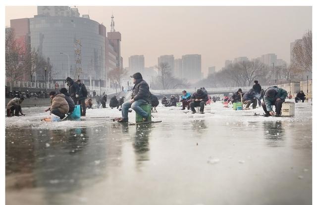
[[[25,67],[25,56],[22,52],[23,45],[15,40],[15,34],[12,29],[5,30],[5,76],[10,81],[10,89],[13,83],[23,77]]]

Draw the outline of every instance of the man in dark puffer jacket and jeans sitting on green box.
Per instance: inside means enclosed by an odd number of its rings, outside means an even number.
[[[122,119],[118,123],[128,122],[129,108],[132,108],[136,113],[142,116],[145,122],[150,113],[145,112],[140,106],[150,102],[150,88],[147,82],[142,78],[141,73],[135,73],[133,76],[134,86],[132,88],[132,99],[122,104]]]

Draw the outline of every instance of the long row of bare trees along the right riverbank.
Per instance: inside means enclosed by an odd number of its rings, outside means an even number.
[[[255,80],[269,85],[305,80],[307,73],[312,73],[312,31],[306,32],[302,39],[295,43],[291,55],[293,60],[290,65],[272,67],[259,60],[232,63],[195,86],[250,86]]]

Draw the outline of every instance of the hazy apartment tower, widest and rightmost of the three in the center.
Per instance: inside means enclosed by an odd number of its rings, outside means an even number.
[[[199,54],[182,56],[183,78],[195,82],[202,78],[202,56]]]

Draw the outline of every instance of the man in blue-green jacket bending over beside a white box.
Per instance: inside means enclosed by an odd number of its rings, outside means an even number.
[[[275,117],[281,116],[282,103],[287,97],[287,91],[277,86],[269,87],[264,91],[264,102],[262,108],[265,112],[264,117],[273,116],[273,105],[275,106]]]

